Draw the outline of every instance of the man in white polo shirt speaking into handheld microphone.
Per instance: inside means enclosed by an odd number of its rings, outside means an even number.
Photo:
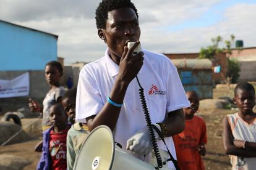
[[[98,36],[108,48],[104,57],[80,71],[77,121],[87,123],[90,131],[103,124],[110,127],[124,150],[148,161],[152,145],[137,76],[145,91],[151,122],[160,129],[176,159],[171,136],[183,131],[182,108],[190,106],[176,67],[162,54],[144,49],[133,54],[140,45],[140,26],[137,9],[129,0],[103,0],[95,18]],[[128,48],[128,42],[135,44]],[[166,150],[161,140],[158,146]],[[169,168],[174,168],[173,163]]]

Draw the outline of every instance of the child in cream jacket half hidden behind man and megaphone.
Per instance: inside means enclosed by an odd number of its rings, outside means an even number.
[[[75,123],[75,98],[77,88],[70,89],[63,96],[62,105],[67,115],[69,115],[70,123],[74,124],[67,132],[67,169],[73,169],[75,156],[79,152],[80,147],[88,136],[88,127],[86,124]]]

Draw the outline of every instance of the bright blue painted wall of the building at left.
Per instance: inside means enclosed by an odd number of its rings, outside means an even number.
[[[0,71],[44,70],[47,62],[58,59],[57,40],[53,34],[0,20]]]

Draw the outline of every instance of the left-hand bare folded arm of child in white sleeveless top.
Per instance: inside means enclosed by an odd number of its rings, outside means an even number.
[[[234,136],[231,132],[231,127],[228,123],[228,117],[223,119],[223,145],[226,154],[236,155],[242,157],[256,157],[256,152],[251,150],[245,150],[244,148],[236,147],[233,144]]]

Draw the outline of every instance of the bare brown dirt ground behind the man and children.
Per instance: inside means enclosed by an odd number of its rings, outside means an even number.
[[[229,96],[233,97],[233,88],[221,87],[213,89],[213,98]],[[203,156],[206,169],[231,169],[228,155],[224,154],[223,142],[222,142],[222,119],[225,115],[235,113],[235,110],[229,109],[207,109],[200,110],[200,116],[205,119],[207,124],[207,136],[208,144],[207,155]],[[36,163],[40,158],[40,153],[33,152],[36,143],[40,141],[40,137],[28,142],[7,145],[0,147],[0,154],[9,154],[22,156],[27,158],[32,164],[28,164],[24,169],[35,169]]]

